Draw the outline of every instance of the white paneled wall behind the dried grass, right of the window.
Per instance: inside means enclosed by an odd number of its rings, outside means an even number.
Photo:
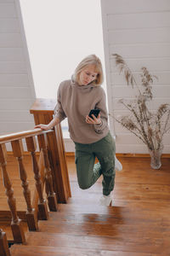
[[[113,53],[122,55],[139,84],[141,67],[147,67],[154,81],[154,99],[150,109],[170,102],[170,1],[169,0],[101,0],[105,66],[109,111],[116,117],[127,114],[119,103],[132,99],[135,90],[127,87],[116,69]],[[116,152],[148,153],[144,143],[111,119],[116,134]],[[163,153],[170,153],[170,133],[164,137]]]

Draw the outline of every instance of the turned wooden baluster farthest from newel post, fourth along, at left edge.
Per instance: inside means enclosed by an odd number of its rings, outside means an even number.
[[[26,242],[26,237],[23,231],[22,223],[20,218],[17,216],[16,212],[16,200],[14,198],[14,190],[12,188],[12,183],[8,177],[8,172],[6,170],[7,166],[7,150],[5,144],[0,144],[0,165],[3,170],[3,184],[6,189],[6,195],[8,196],[8,207],[10,208],[12,221],[11,229],[14,236],[14,242],[24,243]]]

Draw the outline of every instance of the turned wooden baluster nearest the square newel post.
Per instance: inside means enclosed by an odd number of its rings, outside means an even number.
[[[45,188],[46,188],[46,194],[48,197],[48,207],[49,210],[52,212],[57,211],[57,197],[54,193],[53,188],[53,177],[51,168],[49,165],[48,160],[48,148],[46,146],[46,141],[44,135],[38,135],[38,143],[39,148],[42,150],[43,153],[43,159],[44,159],[44,166],[45,166]]]

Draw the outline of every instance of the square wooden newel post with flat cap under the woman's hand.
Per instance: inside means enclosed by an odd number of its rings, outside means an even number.
[[[56,100],[37,99],[31,107],[35,124],[48,124],[54,115]],[[65,146],[60,125],[47,134],[48,157],[53,176],[54,192],[59,203],[66,203],[71,197],[71,187],[65,159]]]

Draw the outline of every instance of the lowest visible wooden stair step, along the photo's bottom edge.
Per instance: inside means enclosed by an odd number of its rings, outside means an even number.
[[[32,247],[14,245],[11,249],[12,256],[151,256],[150,253],[118,252],[99,249],[80,249],[67,247]],[[153,255],[153,254],[152,254]],[[158,254],[154,254],[155,256]]]

